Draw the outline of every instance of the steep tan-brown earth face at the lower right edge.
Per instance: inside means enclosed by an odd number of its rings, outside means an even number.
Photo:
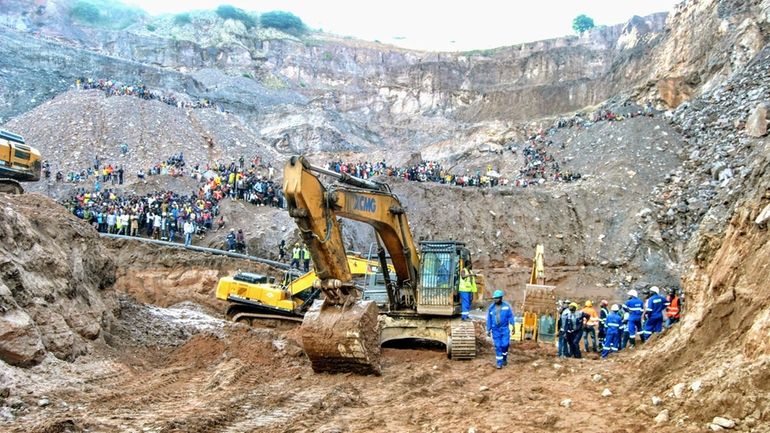
[[[645,380],[668,392],[700,381],[675,408],[698,421],[725,416],[767,425],[770,405],[770,146],[760,144],[726,227],[708,225],[693,241],[696,258],[685,277],[683,323],[646,354]],[[766,212],[766,211],[765,211]]]

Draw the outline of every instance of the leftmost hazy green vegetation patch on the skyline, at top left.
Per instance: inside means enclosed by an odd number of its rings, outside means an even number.
[[[70,18],[79,24],[108,29],[124,29],[145,15],[137,7],[115,0],[79,0],[70,9]]]

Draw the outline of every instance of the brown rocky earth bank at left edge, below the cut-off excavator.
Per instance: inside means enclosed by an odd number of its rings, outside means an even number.
[[[72,360],[112,320],[115,265],[99,237],[50,199],[0,197],[0,359]]]

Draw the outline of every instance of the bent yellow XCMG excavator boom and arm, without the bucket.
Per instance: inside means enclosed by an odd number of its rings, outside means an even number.
[[[318,174],[337,179],[325,187]],[[284,170],[284,193],[291,215],[313,258],[317,285],[332,305],[358,299],[348,266],[338,217],[372,226],[390,255],[397,281],[391,283],[388,266],[381,263],[391,308],[411,306],[415,299],[420,259],[403,206],[387,184],[354,178],[311,165],[294,156]],[[380,251],[384,262],[384,251]]]

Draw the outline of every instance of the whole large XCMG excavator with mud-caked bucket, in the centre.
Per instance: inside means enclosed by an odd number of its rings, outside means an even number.
[[[337,182],[324,186],[319,175]],[[387,184],[316,167],[302,156],[284,167],[283,190],[313,259],[313,287],[324,294],[300,327],[314,371],[380,374],[380,345],[399,339],[443,343],[453,359],[476,356],[474,325],[460,320],[459,275],[473,267],[462,242],[422,241],[418,249],[404,207]],[[367,296],[348,266],[338,218],[374,228],[387,297],[381,311],[376,302],[362,300]]]

